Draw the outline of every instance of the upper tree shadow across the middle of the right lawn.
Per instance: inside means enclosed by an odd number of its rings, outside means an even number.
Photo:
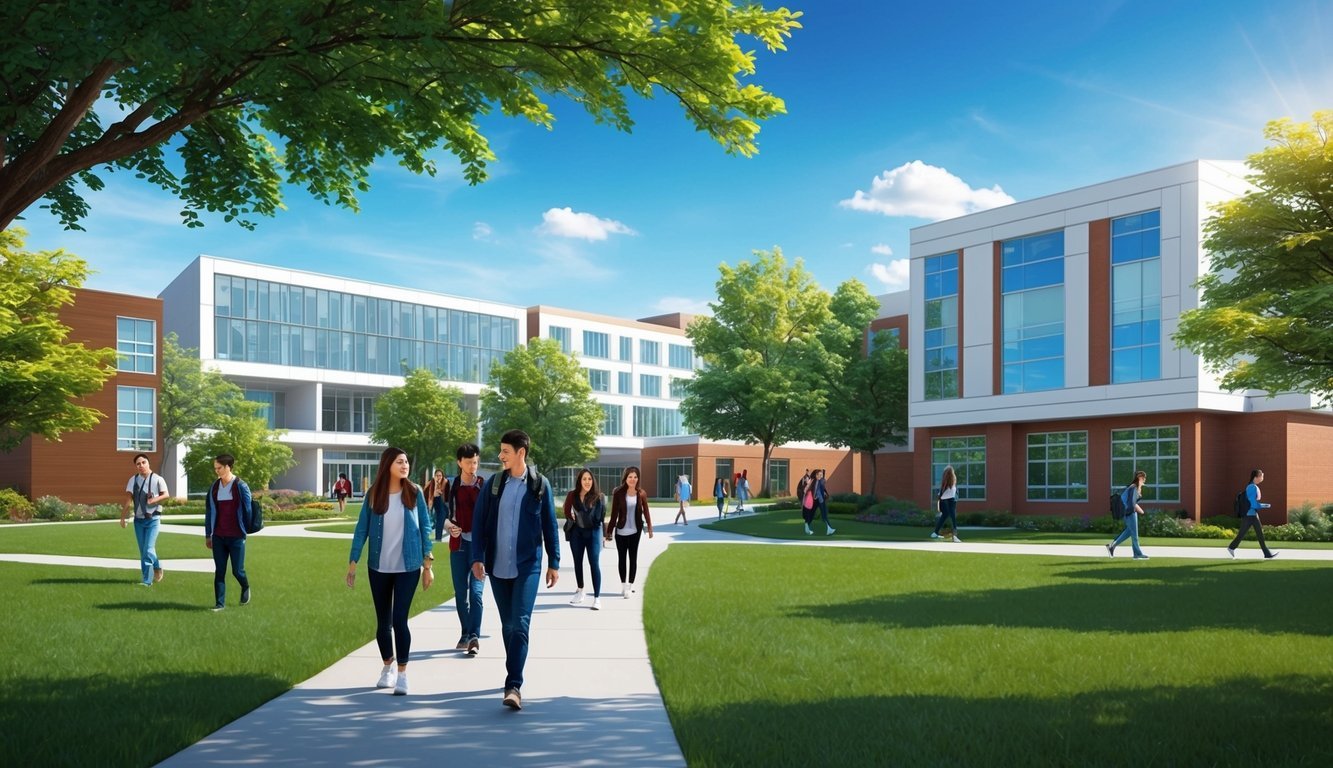
[[[1148,569],[1056,565],[1037,587],[878,595],[788,615],[901,628],[1024,627],[1074,632],[1237,629],[1333,635],[1329,568],[1257,569],[1209,564]]]

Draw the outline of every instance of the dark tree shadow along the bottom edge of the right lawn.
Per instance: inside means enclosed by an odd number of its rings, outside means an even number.
[[[733,701],[672,723],[692,768],[1328,765],[1333,679],[1237,677],[1073,696]],[[670,696],[668,696],[670,700]]]

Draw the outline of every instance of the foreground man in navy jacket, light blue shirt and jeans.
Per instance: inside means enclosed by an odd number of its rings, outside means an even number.
[[[500,611],[505,652],[504,705],[523,709],[523,667],[528,661],[528,628],[541,583],[545,547],[547,588],[560,579],[560,539],[551,483],[528,464],[532,440],[521,429],[500,437],[500,465],[483,485],[472,521],[472,575],[491,573],[491,593]]]

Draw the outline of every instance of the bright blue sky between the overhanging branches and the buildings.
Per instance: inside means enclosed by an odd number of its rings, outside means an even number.
[[[384,160],[360,213],[288,189],[288,209],[251,232],[207,216],[187,229],[169,195],[108,173],[85,232],[40,209],[19,225],[31,249],[87,259],[88,285],[108,291],[156,295],[208,253],[644,317],[706,311],[720,263],[773,247],[828,289],[900,289],[912,227],[1242,160],[1268,120],[1333,108],[1328,0],[789,7],[804,29],[761,52],[754,77],[788,113],[752,159],[726,156],[666,99],[633,103],[629,135],[555,101],[553,131],[485,120],[499,160],[479,187],[443,152],[435,179]]]

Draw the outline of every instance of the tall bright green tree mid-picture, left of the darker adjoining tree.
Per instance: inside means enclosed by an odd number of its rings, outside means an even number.
[[[836,365],[820,340],[832,320],[829,295],[800,259],[756,251],[754,261],[718,269],[713,316],[685,331],[705,368],[689,383],[680,411],[709,440],[764,447],[764,487],[773,448],[818,436],[824,369]]]

